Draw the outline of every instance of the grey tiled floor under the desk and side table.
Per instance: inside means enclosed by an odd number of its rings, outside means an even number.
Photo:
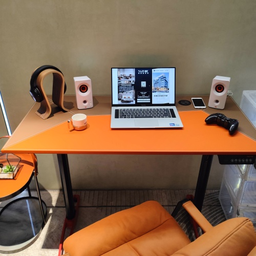
[[[116,211],[129,208],[147,200],[158,201],[166,210],[172,213],[175,205],[180,200],[184,199],[188,194],[194,195],[194,192],[194,190],[170,189],[74,191],[74,195],[80,196],[79,215],[75,231],[113,214]],[[218,200],[218,193],[219,190],[206,191],[202,210],[203,214],[212,225],[216,225],[225,220]],[[27,196],[27,192],[25,191],[20,196]],[[36,191],[32,191],[32,196],[36,196]],[[13,253],[13,255],[58,255],[62,226],[66,216],[63,195],[59,190],[42,190],[41,197],[47,205],[47,223],[32,245],[22,251]],[[0,210],[7,203],[7,201],[0,203]],[[187,228],[185,219],[187,218],[182,212],[177,217],[177,221],[184,229]]]

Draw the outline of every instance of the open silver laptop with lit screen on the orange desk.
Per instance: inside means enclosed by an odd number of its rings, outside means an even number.
[[[175,68],[112,68],[112,129],[181,128]]]

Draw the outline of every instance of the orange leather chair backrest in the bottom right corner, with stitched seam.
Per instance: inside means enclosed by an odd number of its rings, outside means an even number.
[[[248,218],[233,218],[211,228],[173,255],[243,256],[256,251],[255,246],[256,233],[252,222]]]

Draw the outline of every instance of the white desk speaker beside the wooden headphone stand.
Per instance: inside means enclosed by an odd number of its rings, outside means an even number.
[[[92,81],[88,76],[74,77],[76,104],[79,110],[93,108]]]

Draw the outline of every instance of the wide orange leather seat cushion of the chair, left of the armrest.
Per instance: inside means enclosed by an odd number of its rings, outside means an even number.
[[[116,212],[67,238],[70,256],[171,255],[190,243],[175,219],[156,201]]]

